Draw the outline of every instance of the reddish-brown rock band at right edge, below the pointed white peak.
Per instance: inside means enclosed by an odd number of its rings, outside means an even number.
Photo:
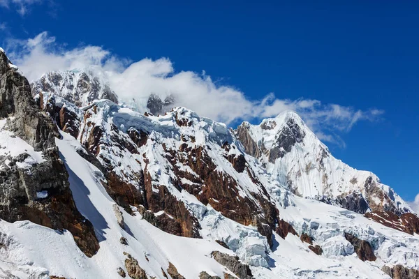
[[[365,213],[364,216],[400,232],[419,234],[419,218],[413,213],[404,213],[401,216],[397,216],[391,211],[372,211]]]

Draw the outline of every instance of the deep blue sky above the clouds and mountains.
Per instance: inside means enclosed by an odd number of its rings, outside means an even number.
[[[321,101],[316,115],[328,104],[360,110],[337,130],[316,119],[332,153],[404,199],[419,193],[417,1],[142,2],[0,0],[0,42],[47,31],[55,52],[94,45],[122,61],[167,57],[175,73],[205,70],[250,102],[274,93]]]

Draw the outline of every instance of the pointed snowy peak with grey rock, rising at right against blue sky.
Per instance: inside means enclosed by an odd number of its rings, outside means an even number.
[[[365,213],[369,209],[402,214],[409,205],[372,172],[358,171],[332,156],[295,112],[260,125],[244,122],[237,137],[279,183],[302,197],[320,199]]]

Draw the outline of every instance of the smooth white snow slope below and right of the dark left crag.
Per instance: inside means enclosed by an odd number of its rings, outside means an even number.
[[[115,202],[101,185],[103,174],[75,152],[80,144],[73,137],[61,135],[57,146],[70,174],[75,203],[94,225],[101,248],[90,259],[75,246],[67,231],[60,233],[28,221],[1,221],[0,239],[6,245],[1,249],[3,276],[121,278],[117,269],[126,271],[124,252],[138,260],[147,276],[156,278],[163,278],[162,269],[166,271],[169,262],[186,278],[198,278],[202,271],[218,276],[230,273],[210,257],[214,250],[231,253],[215,241],[172,236],[147,223],[139,213],[131,216],[123,210],[125,229],[119,227],[113,209]],[[120,243],[122,236],[128,245]]]

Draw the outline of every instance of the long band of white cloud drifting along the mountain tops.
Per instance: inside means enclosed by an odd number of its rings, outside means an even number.
[[[85,45],[68,50],[47,32],[29,40],[8,40],[6,50],[29,80],[36,80],[50,70],[94,68],[108,77],[120,99],[135,102],[138,107],[145,106],[150,93],[161,98],[172,94],[176,105],[225,123],[251,121],[293,110],[321,140],[341,146],[344,142],[337,132],[347,133],[358,121],[374,121],[383,114],[381,110],[355,110],[324,104],[320,100],[279,99],[274,93],[268,93],[260,100],[250,100],[233,86],[217,85],[205,72],[175,71],[170,59],[142,59],[131,63],[103,47]]]

